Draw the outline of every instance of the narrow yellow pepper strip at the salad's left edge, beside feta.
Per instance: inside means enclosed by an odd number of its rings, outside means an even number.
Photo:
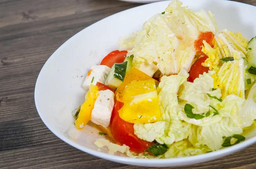
[[[78,118],[75,121],[76,128],[81,130],[90,121],[94,103],[99,95],[99,88],[90,85],[89,91],[86,93],[85,101],[81,105]]]

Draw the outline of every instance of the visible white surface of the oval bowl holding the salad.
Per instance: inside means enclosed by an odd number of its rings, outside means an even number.
[[[49,130],[67,144],[91,155],[119,163],[151,167],[210,161],[256,142],[256,137],[253,137],[226,149],[185,158],[133,159],[121,154],[108,155],[105,150],[97,151],[93,143],[104,136],[98,135],[99,130],[92,123],[83,130],[75,129],[71,112],[84,101],[85,92],[81,84],[90,66],[99,64],[106,54],[118,49],[120,38],[140,30],[144,21],[164,11],[168,3],[151,3],[100,20],[74,35],[52,54],[35,86],[36,108]],[[254,6],[217,0],[183,0],[183,3],[193,10],[204,8],[214,12],[220,30],[227,28],[229,31],[240,31],[248,39],[256,35],[256,22],[252,22],[256,16]]]

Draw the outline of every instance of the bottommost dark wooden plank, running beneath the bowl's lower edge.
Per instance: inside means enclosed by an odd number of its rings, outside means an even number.
[[[207,163],[195,164],[186,167],[172,167],[173,169],[207,169],[221,168],[231,169],[239,166],[256,167],[256,156],[254,151],[256,146],[243,149],[239,153],[210,161]],[[29,146],[21,149],[12,149],[1,152],[0,168],[128,168],[145,169],[140,166],[127,166],[124,164],[105,161],[92,155],[79,151],[60,140],[52,141],[46,144]],[[232,159],[232,160],[231,160]]]

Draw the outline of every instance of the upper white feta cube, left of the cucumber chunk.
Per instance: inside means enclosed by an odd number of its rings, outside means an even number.
[[[82,87],[84,87],[85,90],[89,90],[90,84],[96,85],[97,82],[104,84],[110,70],[111,68],[106,65],[92,66],[83,82]]]

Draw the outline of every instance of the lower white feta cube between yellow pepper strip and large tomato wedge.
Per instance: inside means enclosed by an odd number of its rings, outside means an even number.
[[[114,107],[114,93],[111,90],[99,91],[91,115],[91,121],[103,127],[108,127]]]

